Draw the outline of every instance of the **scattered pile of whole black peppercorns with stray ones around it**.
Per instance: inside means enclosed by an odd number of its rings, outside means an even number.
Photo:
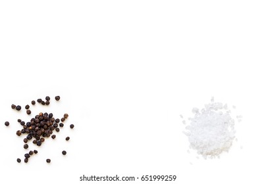
[[[57,96],[55,97],[56,101],[59,101],[61,99],[61,97]],[[42,99],[38,99],[37,100],[38,103],[41,103],[43,105],[49,105],[50,104],[50,97],[45,97],[45,101],[43,101]],[[36,101],[32,101],[31,104],[36,104]],[[12,104],[11,108],[16,109],[16,110],[21,110],[21,106],[20,105],[15,105]],[[31,114],[31,110],[29,109],[30,106],[27,104],[25,106],[26,108],[26,114],[30,115]],[[28,149],[28,141],[32,140],[32,143],[34,143],[35,145],[37,145],[38,147],[40,147],[43,142],[45,141],[45,139],[47,139],[48,137],[51,137],[52,139],[56,138],[56,135],[53,134],[53,131],[57,131],[59,132],[60,129],[59,127],[63,127],[64,124],[62,122],[64,122],[66,120],[66,118],[68,118],[68,114],[64,114],[63,118],[61,118],[61,120],[59,118],[54,118],[53,117],[53,113],[43,113],[40,112],[38,115],[35,116],[35,118],[32,118],[30,120],[30,122],[25,123],[24,121],[18,119],[18,122],[20,123],[20,125],[22,126],[22,129],[16,131],[16,135],[20,136],[22,134],[26,135],[26,138],[23,139],[24,141],[24,149]],[[59,122],[61,121],[61,123],[59,124]],[[9,126],[9,122],[5,122],[5,126]],[[74,124],[70,124],[70,128],[73,129],[74,128]],[[53,134],[53,135],[52,135]],[[70,139],[70,137],[66,137],[66,141],[68,141]],[[33,154],[37,154],[38,150],[30,150],[30,152],[24,154],[25,158],[24,158],[24,162],[27,163],[28,159],[30,158],[30,156],[32,156]],[[66,155],[66,151],[63,150],[62,151],[63,155]],[[20,163],[21,160],[20,158],[17,158],[17,162]],[[50,163],[51,160],[49,158],[46,159],[47,163]]]

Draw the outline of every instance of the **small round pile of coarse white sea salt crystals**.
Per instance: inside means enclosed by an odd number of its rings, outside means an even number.
[[[190,148],[197,150],[204,158],[215,158],[222,152],[228,152],[236,133],[235,121],[228,106],[215,103],[212,98],[205,108],[193,108],[192,112],[194,117],[189,118],[190,125],[184,132],[190,141]]]

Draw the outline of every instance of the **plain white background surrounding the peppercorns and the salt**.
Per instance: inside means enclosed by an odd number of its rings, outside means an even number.
[[[255,183],[255,8],[223,0],[1,1],[0,183],[90,183],[79,181],[83,174]],[[46,95],[61,101],[36,104],[32,115],[70,116],[54,141],[18,164],[26,150],[16,120],[29,120],[24,106]],[[179,115],[188,118],[212,96],[236,105],[233,116],[243,121],[230,152],[197,159]]]

